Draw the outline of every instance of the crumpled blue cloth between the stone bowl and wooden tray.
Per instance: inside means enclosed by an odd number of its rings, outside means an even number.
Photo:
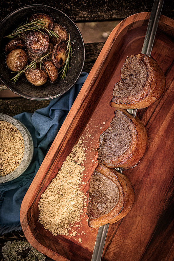
[[[21,176],[0,186],[0,234],[21,230],[19,213],[22,200],[87,75],[86,72],[82,72],[74,86],[59,98],[51,100],[46,108],[38,109],[34,113],[24,112],[14,116],[31,133],[34,156],[28,169]]]

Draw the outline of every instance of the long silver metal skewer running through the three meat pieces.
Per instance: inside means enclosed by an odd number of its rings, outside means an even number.
[[[153,2],[148,28],[146,31],[145,40],[141,51],[141,53],[147,54],[148,56],[150,56],[152,51],[163,4],[164,4],[164,0],[154,0]],[[134,117],[136,116],[137,109],[128,109],[127,111],[131,113]],[[120,173],[122,173],[122,168],[118,168],[117,170]],[[109,223],[98,228],[98,233],[97,233],[91,261],[101,260],[108,228],[109,228]]]

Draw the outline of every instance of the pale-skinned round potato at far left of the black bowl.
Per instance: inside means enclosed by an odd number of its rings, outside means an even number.
[[[27,62],[27,54],[23,49],[14,49],[6,57],[6,64],[13,72],[19,72]]]

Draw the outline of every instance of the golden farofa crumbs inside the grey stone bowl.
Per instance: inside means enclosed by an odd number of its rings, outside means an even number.
[[[11,123],[0,120],[0,176],[14,171],[24,156],[24,139]]]

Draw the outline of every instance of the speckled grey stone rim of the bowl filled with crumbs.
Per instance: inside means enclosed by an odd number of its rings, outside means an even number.
[[[29,164],[32,161],[32,157],[34,153],[34,144],[29,130],[19,120],[4,113],[0,113],[0,120],[9,122],[12,125],[14,125],[19,130],[24,140],[24,155],[22,157],[20,164],[11,173],[5,176],[0,176],[0,184],[1,184],[16,179],[19,176],[21,176],[21,174],[24,173],[24,171],[28,168]]]

